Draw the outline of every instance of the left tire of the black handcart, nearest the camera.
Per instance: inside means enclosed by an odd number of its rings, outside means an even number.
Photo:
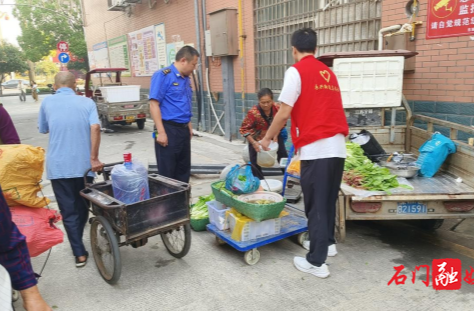
[[[102,250],[98,246],[97,240],[97,227],[101,225],[104,229],[103,237],[107,240],[110,254],[113,257],[113,269],[112,272],[108,272],[105,268],[102,259]],[[115,231],[112,229],[109,221],[102,216],[95,217],[91,224],[91,248],[92,254],[94,255],[95,264],[99,270],[102,278],[109,284],[113,285],[118,282],[120,275],[122,274],[122,259],[120,257],[119,245]]]

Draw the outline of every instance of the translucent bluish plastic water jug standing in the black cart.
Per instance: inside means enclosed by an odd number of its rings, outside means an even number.
[[[130,169],[123,164],[115,165],[111,177],[115,199],[125,204],[133,204],[150,198],[148,170],[135,159]]]

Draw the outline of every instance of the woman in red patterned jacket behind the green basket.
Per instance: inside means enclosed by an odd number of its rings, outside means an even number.
[[[240,127],[240,134],[245,137],[249,143],[249,156],[254,176],[263,179],[262,168],[257,165],[257,153],[260,151],[260,141],[272,124],[273,118],[278,112],[278,107],[273,102],[273,92],[268,88],[263,88],[258,92],[258,105],[252,107]],[[284,128],[283,128],[284,129]],[[283,136],[280,133],[273,138],[274,142],[278,142],[278,161],[281,158],[288,157],[285,149]]]

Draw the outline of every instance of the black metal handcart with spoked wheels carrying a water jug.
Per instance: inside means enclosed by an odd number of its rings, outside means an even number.
[[[138,248],[144,246],[149,237],[161,235],[172,256],[182,258],[188,253],[191,246],[189,184],[149,174],[150,199],[125,204],[114,198],[108,174],[104,174],[104,179],[94,184],[86,182],[81,196],[91,202],[94,214],[90,220],[92,253],[97,269],[107,283],[115,284],[120,278],[119,247]]]

